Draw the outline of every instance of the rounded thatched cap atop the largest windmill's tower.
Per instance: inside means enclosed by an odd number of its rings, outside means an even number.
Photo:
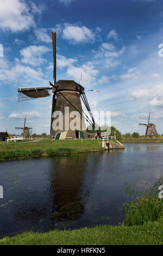
[[[79,83],[76,83],[74,80],[59,80],[57,83],[54,84],[55,86],[58,86],[58,90],[77,90],[80,86]],[[84,87],[82,87],[84,90]],[[55,88],[52,89],[52,92],[55,92]]]

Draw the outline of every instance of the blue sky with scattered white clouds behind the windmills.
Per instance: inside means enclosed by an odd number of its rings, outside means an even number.
[[[57,81],[74,80],[93,111],[111,111],[122,133],[163,133],[163,1],[0,0],[0,131],[33,127],[49,134],[52,96],[17,102],[17,87],[53,82],[51,31],[57,32]],[[84,109],[84,107],[83,107]],[[85,109],[84,109],[85,110]],[[21,133],[21,131],[20,131]]]

